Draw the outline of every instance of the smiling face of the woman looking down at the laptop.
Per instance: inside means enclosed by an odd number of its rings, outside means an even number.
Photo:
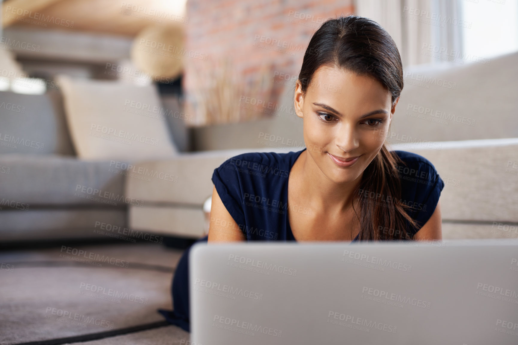
[[[321,66],[305,97],[299,82],[295,90],[307,154],[332,181],[355,181],[383,146],[396,104],[377,80]]]

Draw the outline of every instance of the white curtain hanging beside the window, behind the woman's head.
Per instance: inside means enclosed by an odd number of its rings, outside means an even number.
[[[459,0],[355,0],[355,14],[392,36],[404,67],[447,62],[462,49]]]

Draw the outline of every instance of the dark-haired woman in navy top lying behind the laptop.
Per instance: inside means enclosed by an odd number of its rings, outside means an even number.
[[[444,182],[424,157],[384,145],[402,76],[376,22],[324,22],[295,86],[306,148],[241,154],[215,169],[209,234],[197,242],[441,239]],[[188,255],[172,282],[174,311],[161,311],[187,332]]]

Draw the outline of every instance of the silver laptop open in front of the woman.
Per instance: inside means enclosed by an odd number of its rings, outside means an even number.
[[[195,244],[191,343],[518,344],[518,240]]]

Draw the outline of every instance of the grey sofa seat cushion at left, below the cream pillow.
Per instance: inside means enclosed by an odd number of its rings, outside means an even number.
[[[111,161],[0,155],[0,207],[24,211],[42,206],[138,206],[139,200],[124,196],[124,174]]]

